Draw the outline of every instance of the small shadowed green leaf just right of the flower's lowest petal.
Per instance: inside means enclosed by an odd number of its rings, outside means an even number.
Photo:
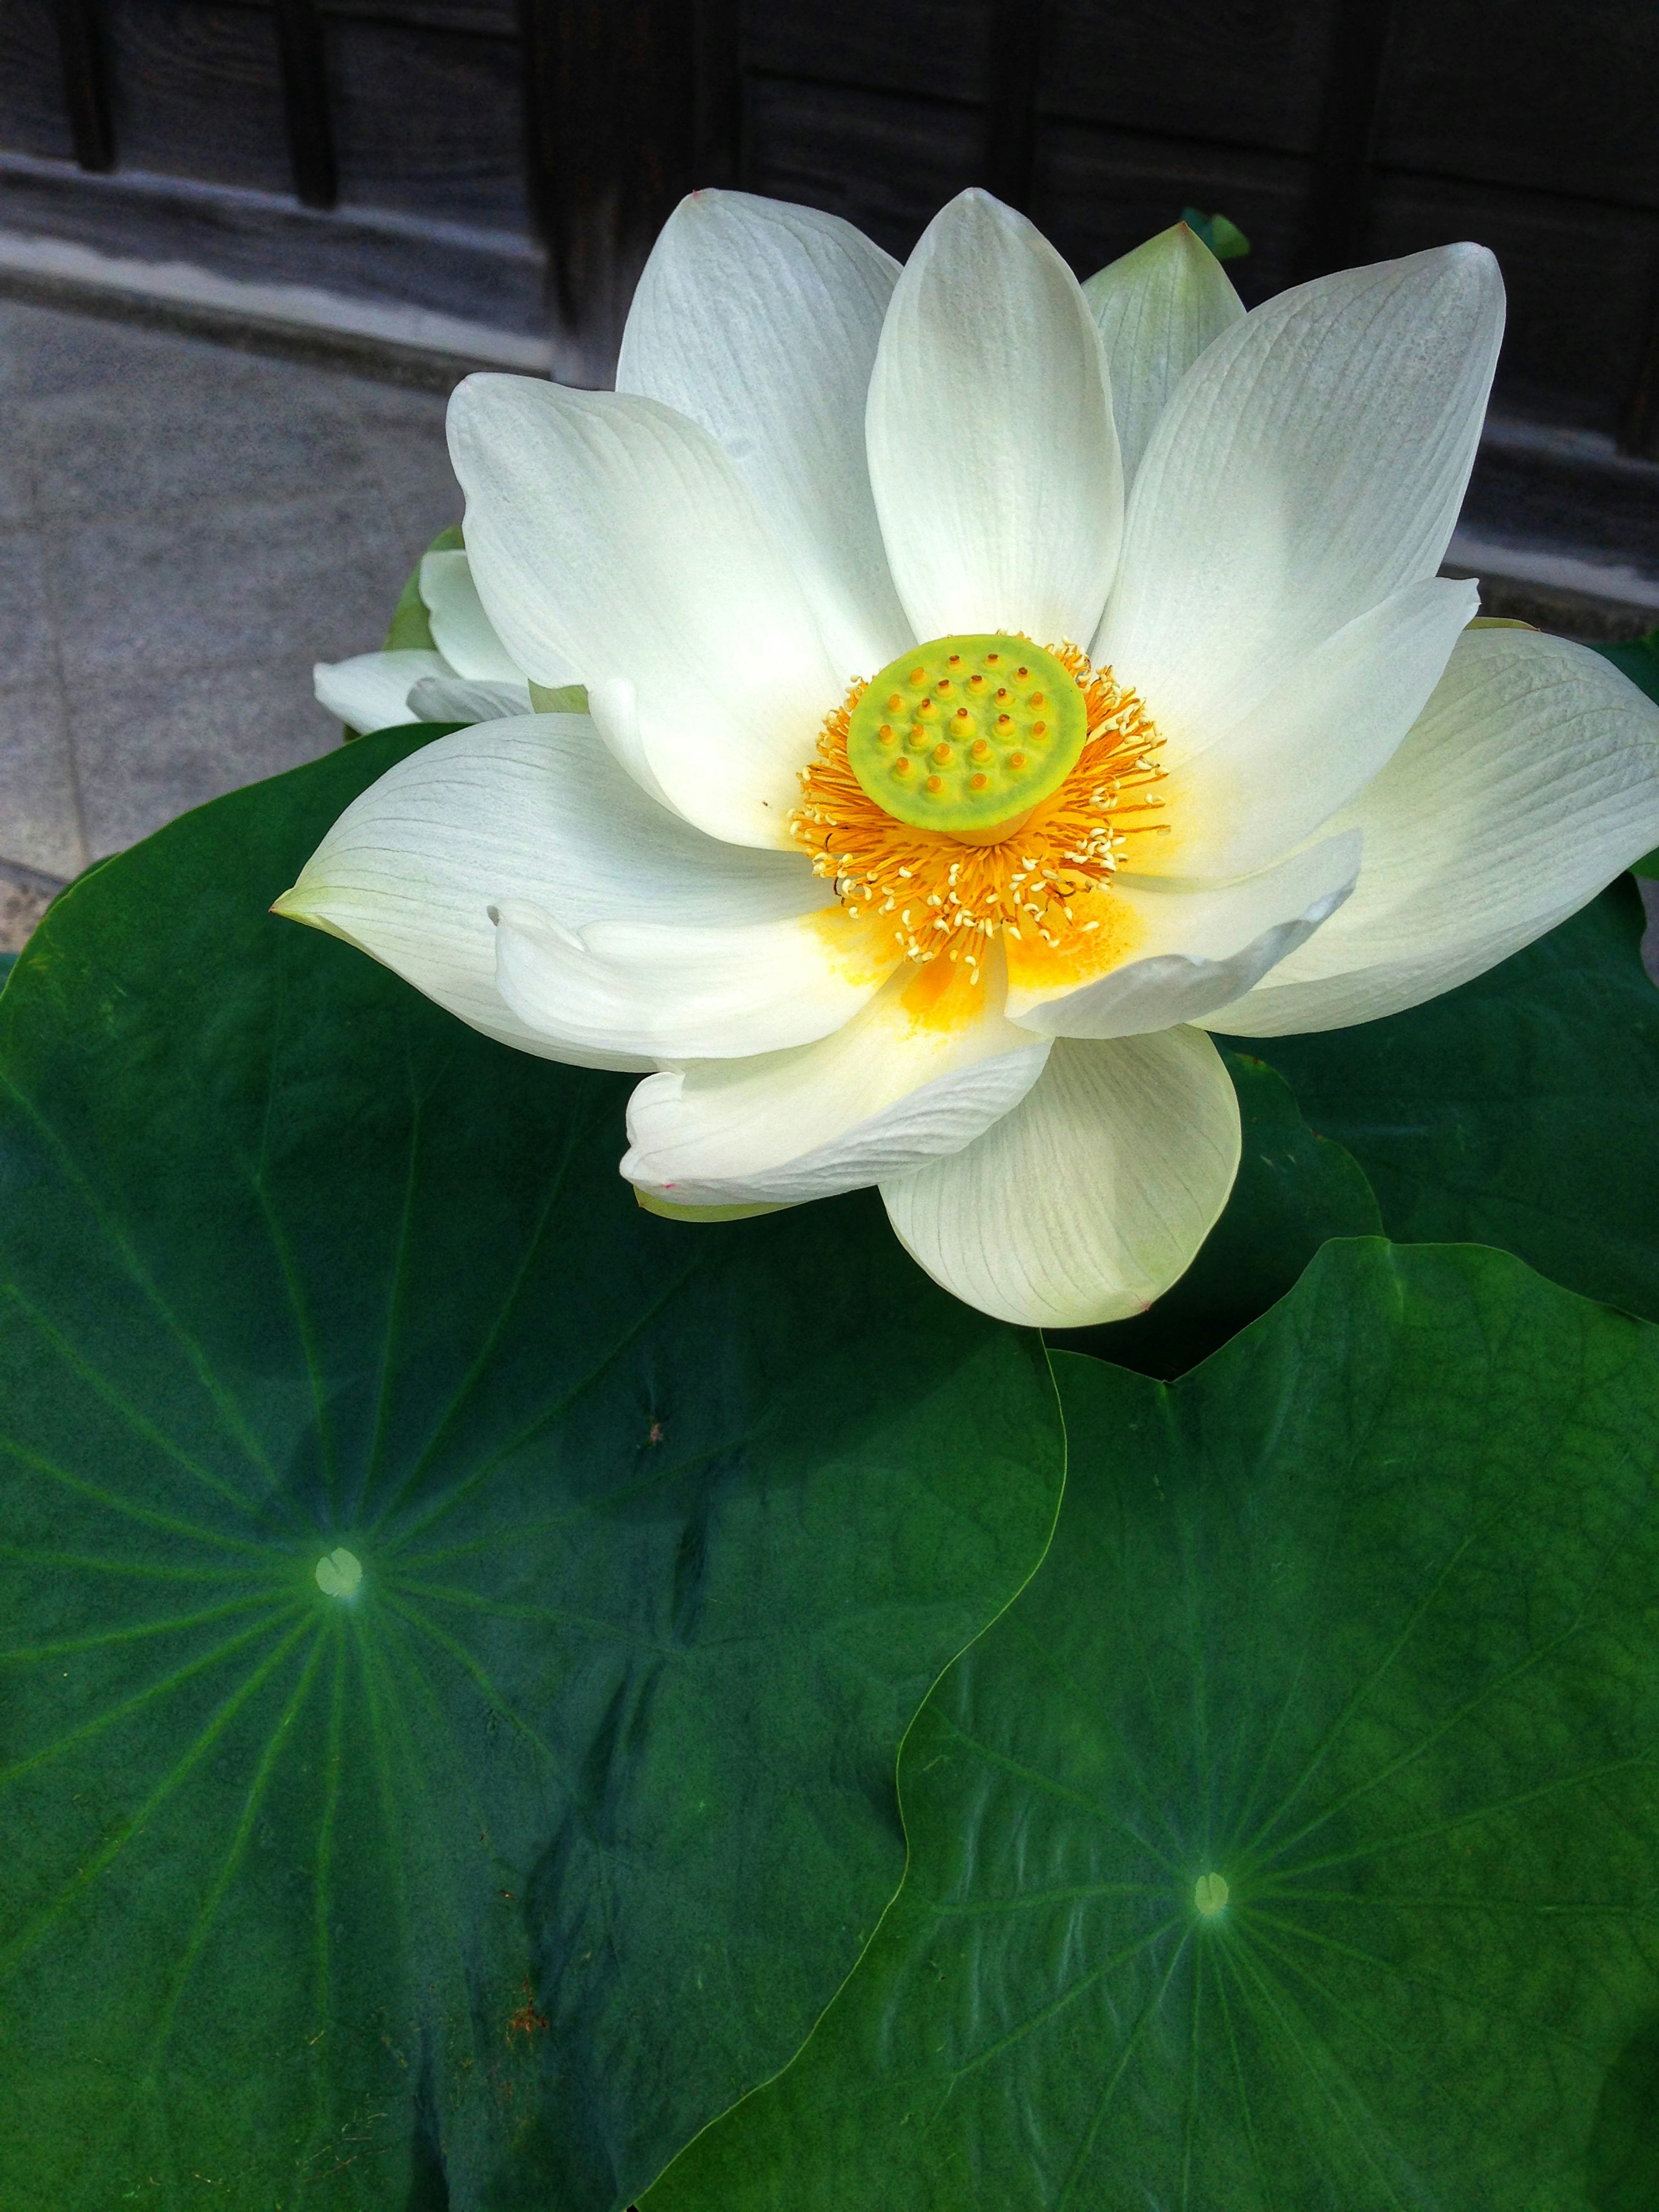
[[[1197,1367],[1296,1283],[1327,1237],[1376,1237],[1376,1194],[1358,1161],[1316,1137],[1283,1075],[1237,1051],[1223,1055],[1239,1093],[1239,1181],[1181,1281],[1133,1321],[1048,1329],[1048,1343],[1139,1374]]]

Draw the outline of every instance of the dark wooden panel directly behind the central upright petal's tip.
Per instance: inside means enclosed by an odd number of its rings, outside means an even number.
[[[845,215],[891,254],[978,181],[982,144],[969,106],[779,77],[745,88],[748,190]]]

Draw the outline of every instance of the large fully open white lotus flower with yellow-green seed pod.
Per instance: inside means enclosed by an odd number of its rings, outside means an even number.
[[[489,619],[593,719],[427,745],[279,911],[646,1073],[648,1203],[876,1183],[971,1305],[1144,1307],[1239,1159],[1206,1026],[1394,1013],[1659,843],[1659,712],[1436,575],[1500,327],[1475,246],[1245,316],[1179,228],[1079,288],[984,192],[902,272],[697,195],[615,394],[449,414]]]

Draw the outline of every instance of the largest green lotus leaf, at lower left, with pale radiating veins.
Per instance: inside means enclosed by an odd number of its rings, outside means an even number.
[[[670,1223],[626,1077],[265,914],[367,737],[0,995],[0,2205],[611,2212],[902,1874],[1040,1559],[1035,1336],[863,1194]]]

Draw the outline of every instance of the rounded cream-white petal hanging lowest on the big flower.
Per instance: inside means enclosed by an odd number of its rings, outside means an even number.
[[[883,1183],[900,1243],[998,1321],[1079,1329],[1146,1312],[1239,1172],[1239,1099],[1197,1029],[1055,1044],[978,1144]]]

